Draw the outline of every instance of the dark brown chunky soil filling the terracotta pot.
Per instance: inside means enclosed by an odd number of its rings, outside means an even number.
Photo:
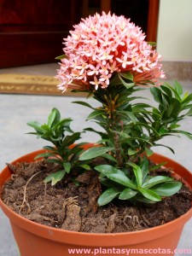
[[[66,177],[51,186],[43,181],[58,170],[55,164],[40,161],[9,168],[14,174],[3,187],[3,201],[21,216],[58,229],[90,233],[143,230],[172,221],[191,207],[192,196],[185,186],[176,195],[152,205],[113,201],[97,207],[102,188],[94,171],[79,174],[79,185]]]

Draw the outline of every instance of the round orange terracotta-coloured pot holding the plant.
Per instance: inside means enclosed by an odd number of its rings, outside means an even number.
[[[44,150],[26,154],[15,162],[33,161],[33,158]],[[160,154],[154,154],[156,163],[167,161],[167,166],[177,170],[177,176],[183,177],[185,183],[192,188],[192,174],[177,162]],[[0,189],[10,177],[9,168],[0,173]],[[1,192],[0,191],[0,192]],[[3,212],[9,217],[15,240],[20,248],[21,256],[67,256],[73,255],[173,255],[177,247],[183,225],[192,216],[192,209],[170,223],[148,230],[140,230],[116,234],[87,234],[67,230],[57,230],[42,224],[34,223],[11,211],[0,200]],[[71,249],[71,253],[69,251]],[[73,249],[79,249],[76,253]],[[87,251],[80,251],[80,250]],[[90,250],[90,252],[89,252]],[[127,251],[126,251],[127,250]],[[130,250],[130,251],[129,251]],[[154,250],[154,251],[152,251]]]

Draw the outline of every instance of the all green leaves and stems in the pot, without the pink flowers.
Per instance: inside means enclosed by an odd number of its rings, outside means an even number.
[[[181,134],[192,139],[191,133],[180,128],[181,121],[192,115],[192,94],[184,93],[182,85],[177,82],[173,86],[163,84],[158,88],[151,87],[151,96],[156,102],[155,106],[151,106],[143,102],[143,97],[137,96],[137,90],[141,88],[135,86],[130,72],[116,73],[108,89],[99,87],[91,91],[96,101],[100,102],[100,107],[75,102],[90,108],[87,120],[93,120],[102,127],[102,131],[84,129],[101,137],[94,148],[84,150],[83,143],[73,145],[79,140],[80,132],[73,132],[70,128],[72,119],[61,119],[56,108],[49,114],[47,124],[29,122],[27,125],[35,130],[31,134],[53,144],[45,146],[46,153],[39,154],[36,159],[43,157],[61,166],[44,182],[55,185],[75,166],[84,171],[90,170],[92,160],[101,157],[107,164],[95,166],[103,188],[98,199],[99,206],[115,198],[154,203],[177,193],[182,183],[172,177],[154,176],[155,169],[164,163],[149,166],[148,156],[153,154],[154,146],[164,146],[174,153],[172,148],[159,142],[164,137]],[[79,185],[74,177],[72,179]]]

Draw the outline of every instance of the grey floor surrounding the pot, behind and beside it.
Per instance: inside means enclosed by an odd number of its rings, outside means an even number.
[[[28,73],[55,75],[56,64],[32,66],[32,67],[15,67],[2,69],[0,73]],[[184,81],[185,90],[192,92],[192,81]],[[148,91],[145,92],[148,96]],[[67,96],[23,96],[23,95],[0,95],[0,170],[6,162],[15,160],[22,154],[31,152],[38,148],[42,148],[44,143],[37,140],[31,135],[26,135],[26,132],[31,131],[26,125],[29,120],[38,120],[39,122],[46,121],[49,111],[56,107],[60,109],[63,117],[71,117],[73,121],[73,130],[82,131],[85,126],[92,126],[92,123],[85,122],[89,114],[88,108],[80,107],[72,102],[77,100],[75,97]],[[81,100],[81,99],[79,99]],[[93,100],[88,100],[90,104],[96,104]],[[95,126],[96,127],[96,126]],[[183,130],[192,131],[192,119],[183,122]],[[82,140],[87,142],[96,142],[98,137],[94,134],[84,135]],[[155,148],[155,151],[161,154],[166,154],[183,166],[192,170],[191,151],[192,143],[189,139],[181,137],[169,137],[165,141],[172,148],[175,148],[176,154],[172,154],[165,148]],[[185,225],[181,241],[178,248],[192,249],[192,220]],[[0,256],[16,256],[18,250],[15,244],[14,237],[10,230],[9,220],[3,215],[0,210]],[[184,253],[176,254],[186,255]],[[36,256],[36,255],[34,255]],[[56,256],[56,255],[55,255]]]

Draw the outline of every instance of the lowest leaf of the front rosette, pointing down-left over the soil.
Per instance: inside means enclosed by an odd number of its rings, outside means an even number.
[[[113,201],[113,199],[117,197],[119,193],[120,193],[120,190],[117,188],[111,188],[111,189],[105,190],[98,199],[98,205],[100,207],[107,205],[110,201]]]

